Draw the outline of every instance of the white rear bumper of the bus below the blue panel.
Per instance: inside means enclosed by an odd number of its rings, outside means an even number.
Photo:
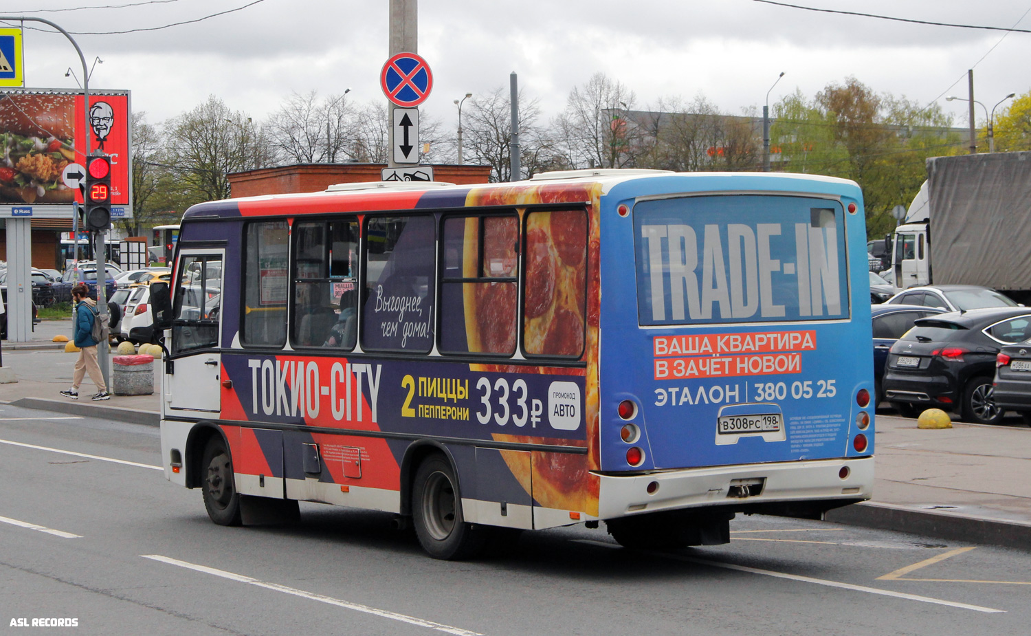
[[[844,478],[842,468],[847,469]],[[600,478],[599,518],[703,507],[770,513],[783,508],[788,513],[869,499],[873,458],[686,468]]]

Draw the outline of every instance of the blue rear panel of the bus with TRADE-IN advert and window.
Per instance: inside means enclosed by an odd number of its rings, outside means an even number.
[[[857,393],[873,373],[854,183],[631,181],[602,198],[601,219],[602,470],[630,470],[630,445],[639,470],[858,457],[861,432],[872,454],[872,425],[857,428],[860,410],[872,419]],[[622,400],[637,407],[629,444]]]

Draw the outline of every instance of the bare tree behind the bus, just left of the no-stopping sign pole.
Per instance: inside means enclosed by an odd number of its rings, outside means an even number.
[[[293,93],[265,124],[272,153],[284,163],[336,163],[351,159],[356,113],[346,92],[320,100]]]

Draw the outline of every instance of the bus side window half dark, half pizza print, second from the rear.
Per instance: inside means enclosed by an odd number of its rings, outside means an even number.
[[[440,350],[516,353],[519,217],[451,216],[443,222]]]

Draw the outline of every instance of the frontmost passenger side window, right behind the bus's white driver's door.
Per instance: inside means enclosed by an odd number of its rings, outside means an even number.
[[[250,223],[244,229],[243,344],[281,347],[287,342],[288,246],[285,221]]]

